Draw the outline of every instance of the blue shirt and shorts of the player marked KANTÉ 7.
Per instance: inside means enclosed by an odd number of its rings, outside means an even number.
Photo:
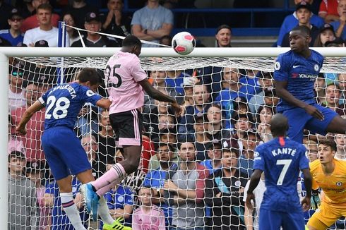
[[[306,148],[289,138],[274,138],[256,147],[253,170],[266,176],[259,229],[304,229],[304,214],[297,193],[302,169],[309,169]]]

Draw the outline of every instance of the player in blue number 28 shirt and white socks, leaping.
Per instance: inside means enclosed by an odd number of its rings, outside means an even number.
[[[111,102],[95,94],[101,83],[101,78],[92,68],[84,68],[78,74],[78,80],[73,83],[58,85],[48,90],[34,104],[32,104],[20,119],[16,132],[25,135],[26,123],[35,112],[46,108],[44,119],[44,133],[42,147],[44,155],[58,183],[61,204],[73,227],[77,230],[85,229],[76,204],[73,202],[71,174],[85,184],[94,181],[91,165],[80,140],[73,132],[78,113],[85,102],[108,109]],[[109,214],[105,199],[100,199],[100,216],[109,225],[114,219]],[[85,229],[86,230],[86,229]]]

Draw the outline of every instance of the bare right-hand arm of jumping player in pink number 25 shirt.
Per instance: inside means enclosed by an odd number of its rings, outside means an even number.
[[[176,116],[181,115],[181,107],[177,103],[177,101],[173,97],[169,97],[168,95],[165,95],[164,93],[160,92],[159,90],[156,90],[153,85],[151,85],[147,79],[141,80],[139,82],[141,86],[143,87],[143,90],[148,93],[150,97],[153,97],[153,99],[157,99],[160,102],[170,102],[172,105],[172,108],[175,111]]]

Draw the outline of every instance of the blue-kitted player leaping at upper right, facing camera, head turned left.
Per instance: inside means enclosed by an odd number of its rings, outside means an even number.
[[[309,49],[310,30],[299,25],[290,32],[291,50],[278,56],[275,63],[277,107],[289,123],[287,135],[299,143],[304,128],[311,133],[346,133],[346,120],[335,111],[316,104],[314,83],[323,64],[323,56]]]

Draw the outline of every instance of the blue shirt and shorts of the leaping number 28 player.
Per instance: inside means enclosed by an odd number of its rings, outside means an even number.
[[[42,147],[56,180],[91,169],[73,128],[83,105],[95,105],[100,99],[100,95],[78,83],[58,85],[38,99],[46,107]]]

